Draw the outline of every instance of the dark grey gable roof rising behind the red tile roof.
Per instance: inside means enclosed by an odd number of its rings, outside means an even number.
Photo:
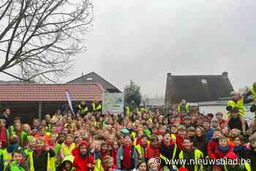
[[[97,73],[95,73],[95,72],[90,72],[87,75],[78,77],[75,80],[69,81],[68,83],[72,83],[72,84],[73,83],[99,83],[109,93],[121,93],[121,91],[118,90],[118,88],[113,86],[111,83],[109,83],[103,77],[100,77],[99,75],[97,75]]]

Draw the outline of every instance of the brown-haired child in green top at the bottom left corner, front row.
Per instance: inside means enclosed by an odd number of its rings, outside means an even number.
[[[24,163],[23,152],[16,149],[12,151],[12,161],[7,165],[4,171],[26,171],[28,166]]]

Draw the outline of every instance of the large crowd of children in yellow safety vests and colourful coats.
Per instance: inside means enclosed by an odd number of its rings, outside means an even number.
[[[31,125],[1,118],[0,171],[255,171],[254,125],[244,126],[241,109],[232,105],[227,104],[227,119],[222,113],[189,111],[186,101],[166,113],[139,110],[124,117],[58,110]],[[168,163],[171,159],[186,162]],[[193,159],[238,163],[188,162]]]

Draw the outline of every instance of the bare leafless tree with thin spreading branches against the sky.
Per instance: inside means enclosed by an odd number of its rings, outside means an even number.
[[[92,20],[89,0],[0,0],[0,72],[44,82],[67,75]]]

